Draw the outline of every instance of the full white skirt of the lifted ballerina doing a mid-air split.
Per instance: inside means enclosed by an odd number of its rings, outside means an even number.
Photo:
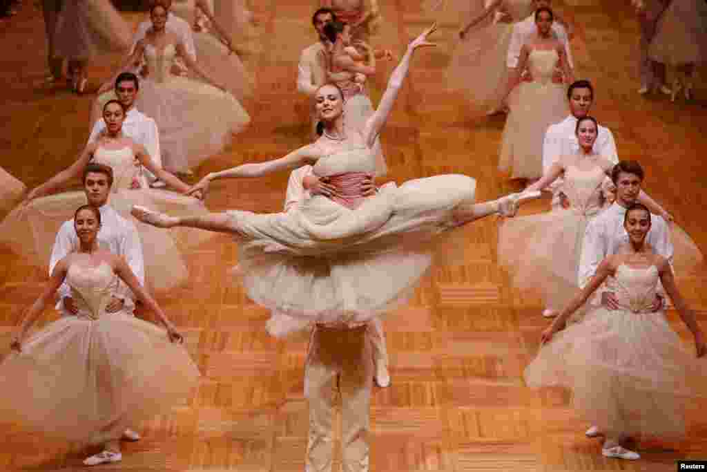
[[[452,212],[473,204],[475,185],[437,175],[389,184],[354,210],[317,196],[287,213],[228,212],[236,272],[248,296],[276,313],[271,334],[366,323],[406,301],[439,256],[455,260]]]

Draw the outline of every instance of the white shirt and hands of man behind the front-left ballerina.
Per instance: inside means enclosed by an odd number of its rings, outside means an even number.
[[[113,254],[122,255],[130,269],[134,272],[140,284],[145,284],[145,263],[142,255],[142,244],[134,224],[121,217],[110,205],[104,204],[98,208],[100,211],[100,230],[98,231],[98,244],[109,250]],[[51,275],[54,266],[66,255],[76,251],[78,248],[78,236],[74,229],[74,220],[64,221],[59,229],[57,238],[52,248],[52,256],[49,259],[49,274]],[[64,297],[71,297],[71,288],[66,282],[59,287],[59,302],[57,310],[64,315],[69,315],[64,306]],[[124,309],[132,313],[135,309],[135,296],[126,284],[119,282],[116,292],[117,298],[124,300]]]

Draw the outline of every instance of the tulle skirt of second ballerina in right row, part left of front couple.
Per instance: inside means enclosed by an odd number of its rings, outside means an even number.
[[[506,219],[498,229],[498,263],[513,287],[561,309],[577,294],[577,273],[588,217],[556,209]]]

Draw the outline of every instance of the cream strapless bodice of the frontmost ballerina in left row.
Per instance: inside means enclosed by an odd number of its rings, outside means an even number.
[[[105,313],[117,288],[118,279],[107,263],[96,267],[72,264],[66,272],[66,283],[78,306],[78,317],[97,320]]]

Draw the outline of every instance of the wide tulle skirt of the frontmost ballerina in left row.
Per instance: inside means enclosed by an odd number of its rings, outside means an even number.
[[[65,316],[0,364],[0,418],[49,437],[119,439],[185,400],[199,369],[167,332],[126,313]]]

